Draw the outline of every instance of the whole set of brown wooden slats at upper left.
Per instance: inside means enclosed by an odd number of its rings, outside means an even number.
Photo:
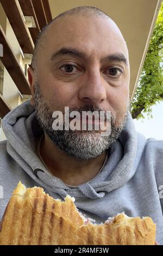
[[[33,54],[34,44],[41,29],[52,20],[48,0],[0,0],[10,25],[15,33],[23,54]],[[33,17],[35,27],[27,27],[24,17]],[[0,59],[9,72],[21,94],[30,94],[26,75],[18,63],[14,51],[0,26],[0,44],[3,45],[3,56]],[[11,110],[8,103],[0,94],[0,118]]]

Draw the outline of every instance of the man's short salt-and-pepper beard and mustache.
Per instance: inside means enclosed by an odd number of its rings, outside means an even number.
[[[116,115],[111,112],[111,132],[110,135],[101,136],[101,133],[97,131],[72,131],[72,130],[53,130],[52,123],[52,111],[49,110],[47,103],[40,93],[39,84],[35,83],[35,112],[36,119],[39,121],[40,126],[51,139],[52,143],[59,149],[64,151],[67,155],[74,157],[78,161],[86,161],[95,159],[101,155],[106,149],[109,149],[111,145],[118,139],[124,125],[126,125],[127,113],[124,114],[121,124],[116,125]],[[82,111],[103,111],[98,106],[85,105],[80,109],[70,109],[70,112],[77,110],[80,113]]]

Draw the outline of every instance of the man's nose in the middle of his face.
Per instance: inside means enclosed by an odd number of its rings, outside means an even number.
[[[99,69],[85,73],[79,89],[79,99],[85,103],[101,103],[106,99],[105,81]]]

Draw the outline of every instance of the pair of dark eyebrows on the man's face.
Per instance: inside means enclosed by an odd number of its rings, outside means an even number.
[[[51,60],[55,60],[58,57],[64,56],[64,55],[70,55],[72,57],[78,57],[81,59],[86,59],[86,55],[83,52],[80,52],[74,48],[66,48],[62,47],[60,48],[57,52],[54,52],[51,56]],[[104,58],[101,59],[101,62],[106,62],[106,61],[111,61],[111,60],[116,60],[117,62],[123,62],[125,65],[127,65],[127,58],[124,56],[123,53],[114,53],[114,54],[109,54],[108,56],[105,56]]]

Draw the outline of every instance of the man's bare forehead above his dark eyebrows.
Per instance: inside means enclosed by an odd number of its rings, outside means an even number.
[[[127,57],[120,30],[112,20],[101,17],[65,16],[57,19],[48,28],[44,47],[44,57],[48,59],[61,47],[77,48],[88,57],[115,52],[122,52]]]

